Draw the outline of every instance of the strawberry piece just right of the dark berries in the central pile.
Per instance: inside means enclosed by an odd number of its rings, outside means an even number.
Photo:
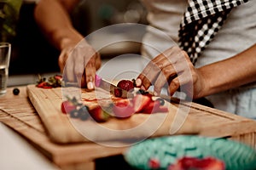
[[[110,118],[110,115],[102,109],[100,105],[97,105],[95,108],[89,110],[90,116],[96,122],[107,122]]]

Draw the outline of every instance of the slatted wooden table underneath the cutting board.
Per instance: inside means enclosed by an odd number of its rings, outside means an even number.
[[[61,169],[96,169],[96,160],[111,156],[119,158],[128,148],[92,142],[56,144],[49,139],[44,124],[27,97],[26,87],[19,89],[19,95],[15,96],[13,88],[9,88],[7,94],[0,98],[0,121],[22,135]],[[189,116],[202,126],[198,135],[234,139],[256,148],[256,122],[253,120],[195,103],[190,107]]]

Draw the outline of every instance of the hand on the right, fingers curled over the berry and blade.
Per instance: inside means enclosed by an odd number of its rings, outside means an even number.
[[[136,82],[137,87],[144,90],[154,85],[155,95],[159,95],[167,85],[170,95],[181,90],[190,98],[201,97],[201,90],[205,86],[201,72],[195,69],[188,54],[178,47],[169,48],[152,59]]]

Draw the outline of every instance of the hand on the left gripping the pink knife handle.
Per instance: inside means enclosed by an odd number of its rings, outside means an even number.
[[[78,44],[70,42],[61,50],[59,66],[66,81],[78,82],[81,88],[93,89],[101,57],[85,40]]]

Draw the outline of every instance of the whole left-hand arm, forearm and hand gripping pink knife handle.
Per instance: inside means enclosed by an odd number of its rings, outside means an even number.
[[[101,59],[72,25],[69,14],[78,3],[79,0],[40,0],[34,17],[49,42],[61,51],[61,73],[68,81],[77,81],[81,87],[93,89]],[[81,48],[75,48],[78,44]]]

